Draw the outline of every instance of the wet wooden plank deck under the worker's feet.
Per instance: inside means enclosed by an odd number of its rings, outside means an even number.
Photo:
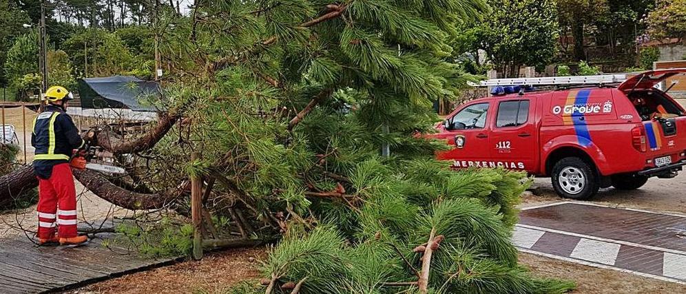
[[[145,259],[123,248],[105,248],[102,239],[83,246],[36,246],[25,236],[0,240],[0,293],[61,291],[127,273],[171,264]]]

